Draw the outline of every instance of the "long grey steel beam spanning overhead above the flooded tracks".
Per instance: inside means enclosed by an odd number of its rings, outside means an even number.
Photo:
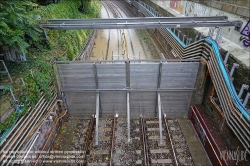
[[[66,19],[48,20],[42,28],[52,30],[77,29],[140,29],[140,28],[190,28],[235,26],[239,30],[241,21],[229,21],[227,16],[212,17],[135,17],[110,19]]]

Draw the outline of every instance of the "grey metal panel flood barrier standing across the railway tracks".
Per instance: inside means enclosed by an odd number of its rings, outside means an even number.
[[[185,116],[199,60],[56,62],[71,115]]]

